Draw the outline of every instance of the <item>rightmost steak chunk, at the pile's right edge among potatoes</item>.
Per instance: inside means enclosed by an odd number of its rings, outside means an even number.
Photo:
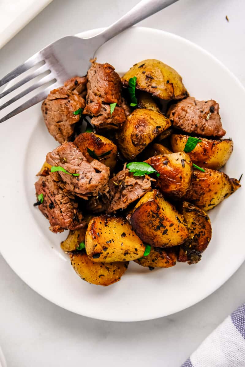
[[[194,97],[185,98],[172,105],[167,115],[173,126],[190,134],[217,137],[226,134],[220,121],[219,103],[213,99],[197,101]]]

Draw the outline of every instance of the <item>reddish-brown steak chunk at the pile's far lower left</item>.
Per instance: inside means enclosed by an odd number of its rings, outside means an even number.
[[[55,172],[46,177],[40,177],[35,183],[36,195],[43,194],[43,203],[40,211],[49,220],[49,229],[54,232],[63,232],[64,229],[81,229],[86,226],[82,213],[72,193],[65,188]]]

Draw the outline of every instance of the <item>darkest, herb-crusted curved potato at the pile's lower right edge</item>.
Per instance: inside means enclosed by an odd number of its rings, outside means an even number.
[[[203,210],[187,201],[181,204],[180,212],[185,218],[190,235],[180,246],[178,261],[196,264],[201,260],[201,254],[208,247],[212,237],[210,219]]]

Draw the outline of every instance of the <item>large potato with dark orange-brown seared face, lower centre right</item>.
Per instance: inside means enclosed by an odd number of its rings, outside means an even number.
[[[177,246],[189,236],[183,215],[158,190],[141,197],[130,222],[141,240],[154,247]]]

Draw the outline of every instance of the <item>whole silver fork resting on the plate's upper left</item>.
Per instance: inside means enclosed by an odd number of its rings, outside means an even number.
[[[15,83],[12,87],[4,90],[0,94],[0,99],[35,78],[39,80],[3,103],[3,105],[0,106],[0,110],[18,101],[18,99],[30,92],[35,91],[37,88],[42,88],[42,90],[28,101],[22,103],[18,108],[15,108],[6,116],[2,117],[0,123],[42,101],[47,97],[50,89],[60,87],[65,80],[76,75],[86,74],[89,69],[89,60],[93,58],[97,49],[106,41],[176,1],[177,0],[141,0],[127,12],[127,14],[96,36],[90,38],[67,36],[51,43],[43,48],[43,50],[37,52],[0,80],[1,87],[22,73],[31,68],[34,69],[35,67],[35,70],[29,75]]]

